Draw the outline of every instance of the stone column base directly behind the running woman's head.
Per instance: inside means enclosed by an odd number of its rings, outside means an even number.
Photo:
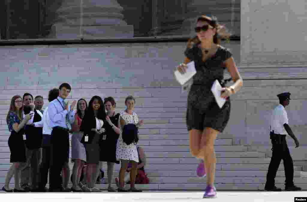
[[[240,0],[190,0],[187,1],[185,21],[177,32],[182,35],[195,35],[197,17],[214,15],[220,24],[225,24],[229,33],[240,36]]]

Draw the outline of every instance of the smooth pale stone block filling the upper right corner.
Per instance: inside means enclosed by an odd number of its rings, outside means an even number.
[[[244,64],[306,65],[305,0],[241,1]]]

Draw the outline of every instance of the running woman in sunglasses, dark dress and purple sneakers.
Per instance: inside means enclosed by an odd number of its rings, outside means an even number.
[[[185,60],[177,66],[184,74],[187,63],[195,62],[196,74],[188,93],[188,109],[186,114],[190,139],[190,152],[202,159],[196,173],[198,177],[207,176],[204,198],[215,197],[214,175],[216,154],[214,142],[217,134],[223,132],[230,115],[229,96],[243,86],[242,78],[235,66],[231,52],[220,45],[221,38],[230,35],[225,33],[215,17],[200,16],[196,21],[196,37],[190,39],[185,50]],[[234,84],[225,87],[224,70],[230,73]],[[221,97],[226,103],[220,108],[212,94],[211,87],[215,80],[222,84]]]

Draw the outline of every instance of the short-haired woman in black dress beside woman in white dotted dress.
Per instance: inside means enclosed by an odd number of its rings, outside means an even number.
[[[119,164],[116,160],[116,144],[119,138],[119,113],[115,114],[116,103],[112,97],[104,99],[104,106],[107,110],[106,136],[103,136],[100,142],[100,161],[106,161],[108,166],[108,192],[116,192],[116,189],[111,187],[113,179],[114,163]]]

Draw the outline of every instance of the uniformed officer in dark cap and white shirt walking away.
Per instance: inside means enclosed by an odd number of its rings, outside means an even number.
[[[274,180],[281,160],[283,160],[285,167],[285,190],[301,190],[300,187],[293,184],[293,161],[286,142],[286,134],[288,133],[295,142],[295,148],[299,146],[297,138],[288,125],[288,115],[285,110],[285,107],[290,103],[290,95],[291,94],[289,92],[278,94],[277,97],[279,98],[279,105],[275,107],[272,112],[270,139],[272,141],[273,153],[266,175],[266,185],[264,188],[266,191],[282,191],[281,188],[276,188]]]

